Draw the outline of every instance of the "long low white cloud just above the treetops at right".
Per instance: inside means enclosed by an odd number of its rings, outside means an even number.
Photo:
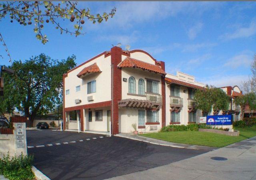
[[[211,76],[200,80],[204,84],[214,85],[216,87],[223,86],[241,86],[241,82],[247,80],[247,75],[225,75],[225,76]]]

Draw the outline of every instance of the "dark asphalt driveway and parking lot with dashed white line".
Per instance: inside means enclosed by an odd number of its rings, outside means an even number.
[[[52,130],[27,130],[27,143],[33,146],[28,153],[34,154],[34,166],[52,180],[106,179],[207,152],[102,134]],[[39,145],[45,146],[36,147]]]

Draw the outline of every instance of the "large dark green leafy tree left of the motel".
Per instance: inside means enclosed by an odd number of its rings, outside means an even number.
[[[14,108],[29,118],[28,126],[36,114],[46,114],[62,98],[62,74],[76,66],[75,56],[66,60],[52,60],[40,54],[25,62],[14,61],[14,75],[5,74],[4,98],[0,110],[12,112]]]

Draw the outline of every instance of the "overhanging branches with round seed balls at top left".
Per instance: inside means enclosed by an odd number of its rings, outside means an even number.
[[[10,22],[17,21],[20,25],[31,25],[32,21],[35,23],[34,32],[36,38],[41,40],[43,44],[48,42],[47,36],[42,34],[44,22],[51,22],[56,26],[56,29],[63,32],[74,34],[76,36],[81,33],[82,25],[85,20],[92,21],[93,24],[101,23],[103,20],[107,21],[109,17],[113,17],[116,8],[113,8],[109,13],[104,12],[100,14],[90,14],[90,9],[79,9],[78,2],[62,1],[61,3],[53,1],[14,1],[14,2],[0,2],[0,20],[6,16],[10,16]],[[76,20],[74,24],[74,31],[64,28],[60,24],[60,19],[68,19],[71,22]]]

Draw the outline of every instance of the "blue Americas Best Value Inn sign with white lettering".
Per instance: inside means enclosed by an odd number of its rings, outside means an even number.
[[[215,115],[207,116],[206,118],[207,125],[231,125],[232,124],[232,115]]]

